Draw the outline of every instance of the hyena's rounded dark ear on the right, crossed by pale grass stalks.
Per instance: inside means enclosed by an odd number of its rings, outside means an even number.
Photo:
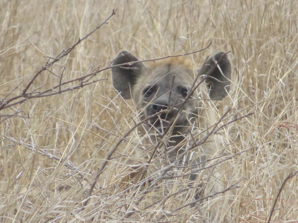
[[[205,79],[209,98],[222,100],[230,90],[231,63],[224,52],[213,55],[198,70],[199,75],[208,75]]]

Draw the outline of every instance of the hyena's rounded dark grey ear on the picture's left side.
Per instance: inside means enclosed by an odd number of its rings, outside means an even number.
[[[114,59],[113,66],[138,61],[138,59],[128,51],[121,51]],[[113,87],[120,92],[124,99],[131,98],[131,89],[136,83],[137,77],[144,72],[145,66],[142,62],[112,67]]]

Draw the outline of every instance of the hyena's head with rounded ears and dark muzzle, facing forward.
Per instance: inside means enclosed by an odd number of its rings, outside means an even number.
[[[198,70],[181,58],[166,59],[151,67],[136,61],[128,51],[118,54],[113,66],[119,66],[112,67],[113,86],[124,99],[134,101],[149,133],[160,134],[171,126],[171,136],[183,136],[198,114],[203,89],[213,100],[223,99],[229,91],[231,64],[223,52],[210,57]],[[128,64],[120,65],[124,63]],[[205,77],[199,86],[201,78],[194,83],[198,75]]]

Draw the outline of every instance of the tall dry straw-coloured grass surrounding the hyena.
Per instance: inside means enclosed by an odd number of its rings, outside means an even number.
[[[41,73],[30,90],[59,84],[63,67],[64,81],[104,68],[122,49],[150,59],[212,42],[190,58],[201,64],[209,54],[231,51],[231,92],[217,104],[218,119],[228,108],[229,120],[254,112],[222,131],[224,153],[231,156],[223,163],[225,186],[237,187],[194,207],[188,205],[191,190],[185,187],[181,197],[173,186],[167,197],[158,185],[138,203],[146,185],[117,186],[111,168],[125,154],[128,137],[82,209],[97,168],[135,112],[117,96],[105,70],[94,84],[1,110],[0,222],[204,222],[210,210],[218,222],[298,222],[298,178],[291,176],[298,170],[294,0],[0,1],[1,103],[22,93],[47,56],[70,47],[113,8],[118,10],[108,24]]]

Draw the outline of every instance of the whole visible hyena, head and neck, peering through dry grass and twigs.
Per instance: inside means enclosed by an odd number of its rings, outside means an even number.
[[[124,99],[133,100],[142,123],[138,128],[140,135],[150,142],[151,150],[156,148],[154,145],[163,147],[168,163],[177,161],[191,144],[187,142],[194,141],[191,138],[195,133],[191,133],[195,125],[207,128],[212,123],[214,117],[204,109],[204,100],[222,100],[230,88],[231,64],[224,52],[211,56],[198,70],[191,61],[181,57],[146,67],[128,51],[121,51],[113,65],[119,65],[112,68],[113,86]],[[203,135],[207,135],[206,131]],[[197,150],[192,148],[192,153],[184,156],[180,164],[191,159],[204,161],[206,154],[212,157],[218,151],[215,143],[201,147],[203,151],[199,156],[193,154]],[[150,157],[153,152],[150,146],[136,153],[142,157],[148,150],[146,154]],[[191,178],[193,180],[195,175]]]

